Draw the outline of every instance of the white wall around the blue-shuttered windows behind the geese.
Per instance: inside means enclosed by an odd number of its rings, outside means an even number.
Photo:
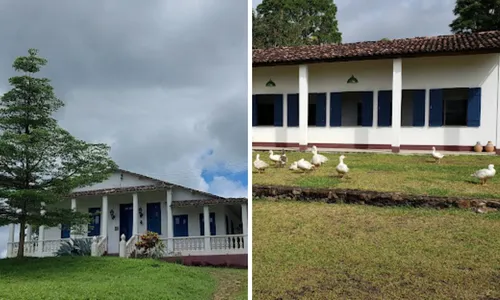
[[[403,59],[403,89],[481,87],[481,126],[428,127],[429,92],[425,127],[402,127],[401,145],[464,145],[495,141],[497,136],[498,54]],[[354,75],[359,83],[347,84]],[[269,79],[276,87],[266,87]],[[309,93],[327,93],[327,127],[310,127],[308,143],[391,144],[390,127],[377,128],[377,91],[392,89],[392,60],[309,65]],[[329,128],[330,92],[374,91],[373,127]],[[253,94],[298,93],[298,66],[253,69]],[[286,101],[286,96],[285,96]],[[286,105],[284,105],[286,107]],[[284,113],[286,116],[286,111]],[[286,118],[284,118],[286,120]],[[253,127],[253,142],[298,143],[299,129]],[[496,141],[500,144],[500,140]]]

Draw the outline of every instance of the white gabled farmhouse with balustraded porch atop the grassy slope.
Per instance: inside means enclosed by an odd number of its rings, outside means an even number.
[[[186,263],[247,266],[247,199],[223,198],[166,181],[118,170],[107,180],[75,190],[61,206],[88,212],[92,221],[86,234],[69,226],[34,228],[28,225],[25,255],[53,256],[61,242],[74,238],[97,241],[97,253],[118,255],[124,236],[126,254],[135,250],[138,236],[146,231],[160,235],[165,256]],[[15,256],[14,225],[10,225],[8,257]]]

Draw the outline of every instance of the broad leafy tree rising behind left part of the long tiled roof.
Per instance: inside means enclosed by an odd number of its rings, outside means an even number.
[[[263,0],[252,14],[253,47],[340,43],[332,0]]]

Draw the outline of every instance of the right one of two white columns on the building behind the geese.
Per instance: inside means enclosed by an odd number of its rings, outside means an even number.
[[[401,58],[392,61],[392,152],[401,146],[401,97],[403,88],[403,64]]]

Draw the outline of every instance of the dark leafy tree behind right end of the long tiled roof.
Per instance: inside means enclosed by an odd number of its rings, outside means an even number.
[[[457,0],[453,14],[453,33],[500,30],[500,0]]]

